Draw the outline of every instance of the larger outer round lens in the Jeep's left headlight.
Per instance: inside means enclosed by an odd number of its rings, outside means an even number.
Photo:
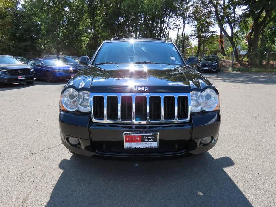
[[[68,88],[62,94],[62,104],[68,111],[75,111],[80,102],[78,92],[73,88]]]

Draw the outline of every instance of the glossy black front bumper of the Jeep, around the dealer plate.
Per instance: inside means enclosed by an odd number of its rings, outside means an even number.
[[[162,157],[182,155],[187,152],[199,154],[211,149],[218,140],[220,112],[191,115],[188,123],[172,124],[106,124],[92,123],[90,115],[77,115],[61,111],[59,126],[64,146],[80,155],[104,155],[115,157]],[[150,149],[124,149],[124,132],[159,132],[159,147]],[[68,136],[78,138],[80,144],[73,146]],[[212,136],[209,144],[201,138]]]

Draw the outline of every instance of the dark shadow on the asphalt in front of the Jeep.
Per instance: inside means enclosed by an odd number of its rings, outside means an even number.
[[[165,160],[110,160],[72,155],[46,206],[252,206],[208,152]]]

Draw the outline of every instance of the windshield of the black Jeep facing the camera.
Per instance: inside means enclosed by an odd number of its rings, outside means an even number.
[[[104,43],[94,65],[122,63],[156,63],[183,65],[183,61],[171,43],[149,41],[124,41]]]

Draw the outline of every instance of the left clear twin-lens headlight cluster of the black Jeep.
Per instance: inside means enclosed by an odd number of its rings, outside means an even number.
[[[90,92],[82,91],[79,93],[73,88],[68,88],[61,95],[61,104],[67,111],[89,112]]]

